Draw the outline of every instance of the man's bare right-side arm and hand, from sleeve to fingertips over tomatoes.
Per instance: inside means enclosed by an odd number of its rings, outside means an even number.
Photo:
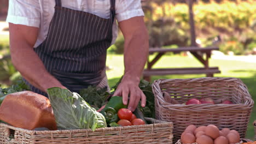
[[[138,85],[148,57],[148,32],[143,16],[121,21],[119,27],[125,39],[125,72],[114,95],[123,96],[123,103],[127,105],[129,101],[128,109],[134,111],[139,100],[143,107],[146,105],[146,97]]]

